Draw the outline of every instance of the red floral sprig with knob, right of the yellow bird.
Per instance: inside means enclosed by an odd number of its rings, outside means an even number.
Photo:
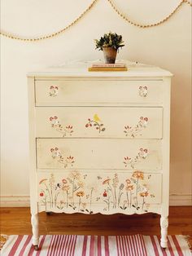
[[[142,130],[144,130],[148,124],[148,117],[140,117],[137,125],[124,126],[124,134],[129,138],[135,138],[136,136],[142,136]]]

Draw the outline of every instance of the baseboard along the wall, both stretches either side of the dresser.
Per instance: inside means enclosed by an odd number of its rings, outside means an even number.
[[[28,207],[30,205],[29,196],[0,196],[1,207]],[[169,197],[171,206],[192,205],[191,194],[171,194]]]

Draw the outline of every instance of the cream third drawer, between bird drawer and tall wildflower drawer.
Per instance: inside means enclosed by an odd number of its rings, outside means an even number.
[[[37,139],[38,169],[161,170],[158,139]]]

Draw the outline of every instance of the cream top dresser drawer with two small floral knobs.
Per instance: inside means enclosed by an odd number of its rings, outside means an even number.
[[[37,106],[160,104],[163,81],[36,81],[35,97]]]

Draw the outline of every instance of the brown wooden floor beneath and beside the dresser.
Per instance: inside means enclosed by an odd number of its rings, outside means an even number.
[[[0,208],[2,234],[31,234],[29,208]],[[192,235],[192,207],[170,207],[168,234]],[[40,234],[159,235],[159,215],[39,214]]]

